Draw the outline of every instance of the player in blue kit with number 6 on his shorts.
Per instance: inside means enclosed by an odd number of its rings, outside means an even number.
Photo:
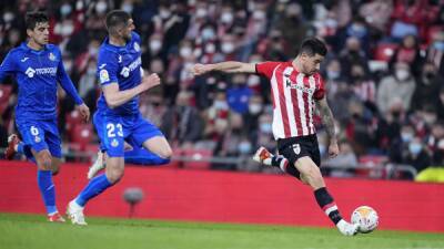
[[[58,83],[74,100],[82,117],[89,120],[89,108],[77,93],[64,71],[59,48],[48,43],[49,19],[42,12],[26,17],[28,41],[12,49],[0,65],[0,82],[7,75],[19,85],[16,125],[23,143],[18,151],[38,166],[38,185],[50,221],[64,221],[56,207],[52,175],[61,163],[61,139],[57,126]]]

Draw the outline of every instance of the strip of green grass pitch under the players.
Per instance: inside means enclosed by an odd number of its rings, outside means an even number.
[[[333,228],[87,218],[89,226],[78,227],[0,214],[0,249],[444,249],[444,234],[376,230],[344,237]]]

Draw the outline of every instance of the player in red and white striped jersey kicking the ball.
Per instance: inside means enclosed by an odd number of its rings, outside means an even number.
[[[343,235],[353,236],[357,232],[357,225],[349,224],[342,218],[319,169],[321,156],[313,125],[315,105],[329,134],[329,155],[334,157],[339,154],[334,120],[325,97],[325,83],[319,74],[320,63],[325,54],[325,44],[316,38],[309,38],[303,41],[293,61],[195,64],[192,73],[255,73],[270,80],[273,100],[272,127],[280,156],[261,147],[253,159],[281,167],[285,173],[310,185],[317,204],[339,230]]]

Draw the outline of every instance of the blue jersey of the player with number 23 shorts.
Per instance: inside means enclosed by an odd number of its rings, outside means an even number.
[[[112,45],[107,38],[99,49],[97,71],[99,82],[101,86],[118,83],[120,91],[133,89],[142,81],[141,64],[139,34],[132,32],[131,41],[124,46]],[[139,96],[115,108],[110,108],[102,93],[98,101],[98,111],[114,116],[137,114],[139,113]]]

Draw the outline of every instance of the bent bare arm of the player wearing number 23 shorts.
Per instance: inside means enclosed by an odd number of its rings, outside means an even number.
[[[144,76],[142,79],[142,82],[133,89],[120,91],[118,83],[110,83],[103,85],[102,90],[108,106],[110,106],[111,108],[115,108],[127,103],[134,96],[141,94],[142,92],[159,84],[160,84],[160,77],[158,74],[153,73],[150,74],[149,76]]]

